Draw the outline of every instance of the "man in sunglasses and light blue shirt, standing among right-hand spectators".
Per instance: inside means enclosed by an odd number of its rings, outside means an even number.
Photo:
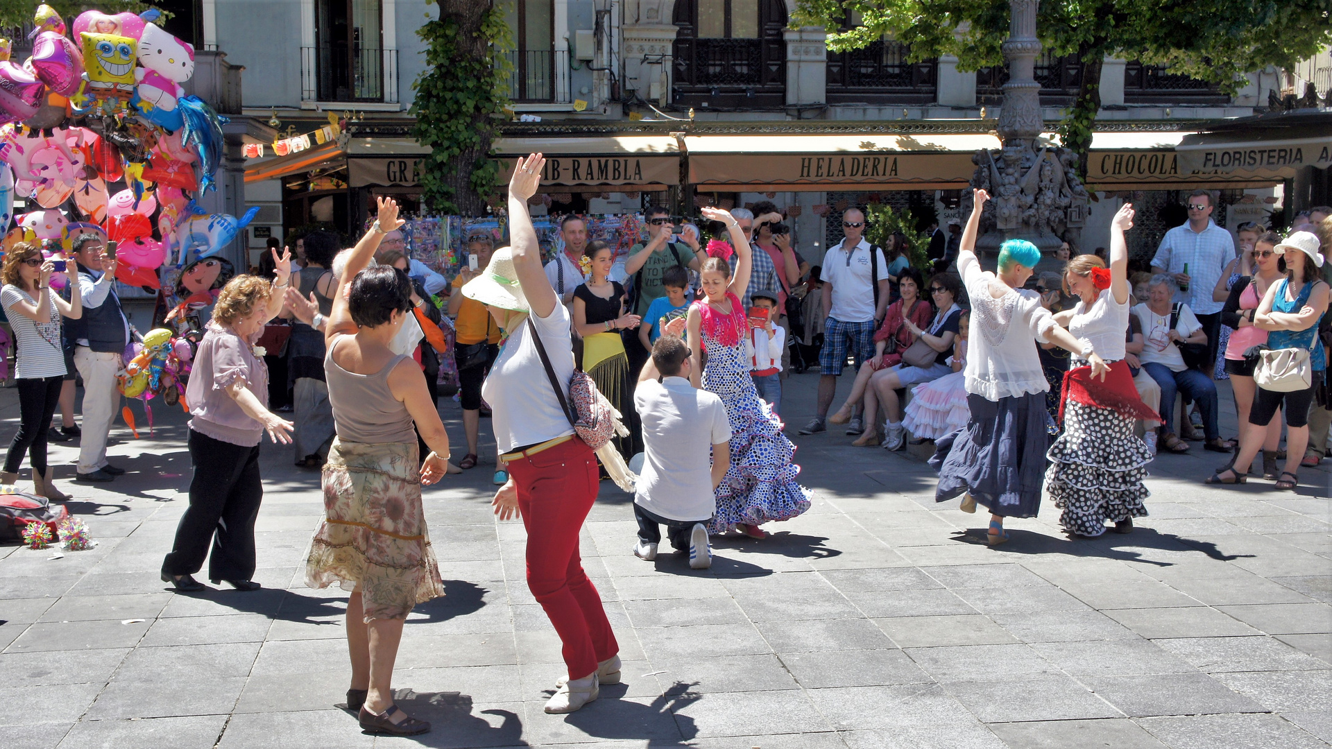
[[[1224,303],[1212,299],[1212,289],[1235,259],[1235,237],[1212,221],[1212,211],[1211,192],[1196,189],[1188,196],[1188,221],[1166,232],[1152,257],[1152,273],[1169,273],[1180,289],[1188,289],[1175,292],[1175,301],[1197,316],[1207,332],[1204,361],[1215,364]]]

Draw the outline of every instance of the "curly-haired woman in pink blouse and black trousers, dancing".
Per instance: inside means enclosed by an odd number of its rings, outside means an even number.
[[[254,341],[282,309],[282,288],[292,257],[277,257],[277,277],[237,276],[217,296],[213,319],[194,355],[185,389],[189,458],[194,477],[189,506],[176,528],[176,541],[163,561],[163,582],[177,590],[202,590],[192,576],[204,566],[213,584],[225,580],[238,590],[256,590],[254,520],[264,498],[258,476],[258,442],[268,432],[288,444],[292,422],[268,409],[268,367]],[[212,553],[209,553],[212,544]]]

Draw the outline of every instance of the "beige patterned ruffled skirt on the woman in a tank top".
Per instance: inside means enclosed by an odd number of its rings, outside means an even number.
[[[305,562],[305,584],[361,586],[365,621],[406,618],[444,596],[421,506],[416,442],[334,440],[324,465],[324,522]]]

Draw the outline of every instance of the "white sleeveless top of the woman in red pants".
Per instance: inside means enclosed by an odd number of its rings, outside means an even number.
[[[569,309],[557,304],[549,317],[529,315],[527,319],[537,325],[550,367],[567,398],[569,381],[574,376]],[[541,365],[541,356],[530,333],[526,321],[509,333],[503,351],[481,385],[481,397],[486,398],[493,410],[490,425],[501,453],[574,433],[569,417],[559,408],[559,398],[550,385],[546,368]]]

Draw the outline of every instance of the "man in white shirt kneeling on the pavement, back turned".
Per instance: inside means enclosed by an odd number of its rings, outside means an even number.
[[[634,494],[634,556],[655,560],[658,525],[666,525],[671,546],[689,549],[689,566],[707,569],[713,564],[707,521],[731,462],[731,422],[722,398],[689,382],[690,367],[685,341],[665,335],[638,376],[634,408],[643,425],[643,468]]]

